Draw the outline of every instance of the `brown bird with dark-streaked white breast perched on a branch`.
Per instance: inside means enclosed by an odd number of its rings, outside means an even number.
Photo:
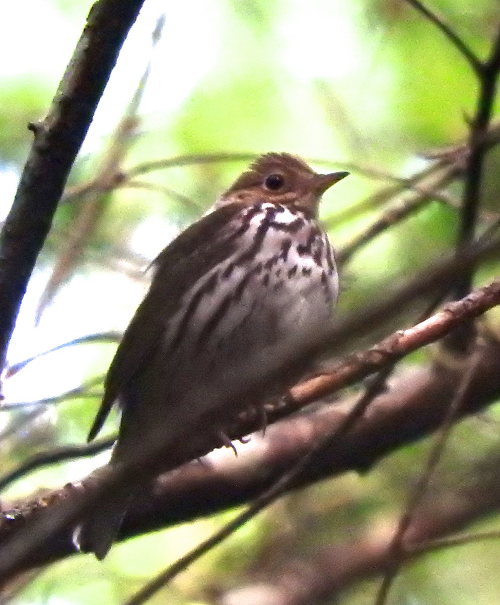
[[[332,321],[338,273],[318,204],[347,174],[318,174],[286,153],[262,155],[159,253],[89,433],[94,439],[112,405],[120,405],[111,465],[133,456],[158,428],[172,430],[183,414],[202,417],[228,377],[239,393],[251,364],[261,378],[248,404],[280,394],[298,378],[290,371],[277,384],[266,378],[266,367],[277,363],[275,345],[310,342]],[[83,550],[106,555],[129,500],[122,494],[83,523]]]

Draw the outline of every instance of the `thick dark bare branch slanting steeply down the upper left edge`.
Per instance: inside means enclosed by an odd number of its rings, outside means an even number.
[[[98,0],[45,119],[37,125],[0,233],[0,369],[72,163],[143,0]]]

